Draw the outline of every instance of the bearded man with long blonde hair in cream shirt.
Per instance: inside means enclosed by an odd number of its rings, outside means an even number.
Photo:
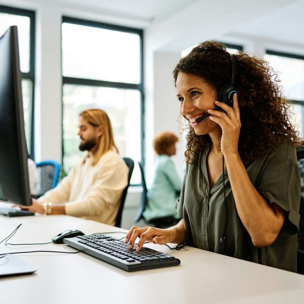
[[[118,154],[106,112],[101,109],[81,112],[78,135],[80,150],[88,151],[83,161],[54,189],[22,208],[113,225],[128,183],[128,167]]]

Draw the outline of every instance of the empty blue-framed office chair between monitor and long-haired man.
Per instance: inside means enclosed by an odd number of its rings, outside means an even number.
[[[59,177],[60,165],[55,161],[43,161],[37,163],[36,166],[40,177],[39,196],[42,196],[50,189],[56,187]]]

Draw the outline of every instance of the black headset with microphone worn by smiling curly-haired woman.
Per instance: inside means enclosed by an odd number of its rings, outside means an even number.
[[[231,84],[224,85],[219,93],[218,93],[218,101],[224,102],[225,104],[229,106],[233,106],[233,95],[234,93],[237,93],[239,95],[238,91],[235,89],[235,76],[237,74],[237,60],[235,55],[230,54],[230,59],[232,63],[232,77],[231,77]],[[219,106],[216,106],[213,110],[219,110],[221,109]],[[210,116],[209,113],[204,114],[203,116],[197,118],[195,121],[196,123],[200,123],[204,119],[206,119],[208,116]]]

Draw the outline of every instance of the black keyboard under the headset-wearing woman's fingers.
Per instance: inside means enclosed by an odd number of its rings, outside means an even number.
[[[125,271],[175,266],[180,260],[174,256],[143,247],[129,249],[129,244],[108,235],[98,234],[63,239],[63,243],[108,262]]]

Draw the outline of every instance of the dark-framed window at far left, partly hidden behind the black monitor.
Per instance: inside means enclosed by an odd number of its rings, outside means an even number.
[[[25,137],[27,148],[34,157],[33,138],[33,107],[34,107],[34,41],[35,41],[35,13],[0,6],[0,35],[9,26],[17,25],[20,53],[20,69],[22,74],[22,97],[25,123]]]

